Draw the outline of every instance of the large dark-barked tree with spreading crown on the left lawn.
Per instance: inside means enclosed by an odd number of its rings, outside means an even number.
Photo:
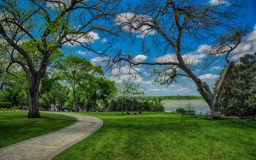
[[[0,38],[9,46],[9,67],[19,64],[28,81],[27,118],[41,117],[37,109],[40,81],[48,65],[61,56],[63,45],[79,44],[96,52],[90,47],[95,32],[102,37],[115,32],[108,20],[118,4],[112,0],[0,1]],[[96,53],[104,54],[108,47],[111,45]]]

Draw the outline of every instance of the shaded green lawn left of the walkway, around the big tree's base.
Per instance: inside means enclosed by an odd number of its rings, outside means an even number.
[[[46,118],[27,119],[27,111],[0,112],[0,148],[72,125],[76,118],[60,114],[40,112]]]

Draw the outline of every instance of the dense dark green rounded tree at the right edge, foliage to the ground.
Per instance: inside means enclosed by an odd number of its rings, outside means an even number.
[[[256,114],[256,53],[240,58],[227,74],[220,93],[218,109],[225,115],[254,116]],[[222,72],[220,73],[222,76]],[[218,85],[219,80],[216,81]]]

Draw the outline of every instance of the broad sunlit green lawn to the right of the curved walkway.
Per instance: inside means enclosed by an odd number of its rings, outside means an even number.
[[[204,115],[81,113],[102,127],[53,160],[255,160],[256,123]]]

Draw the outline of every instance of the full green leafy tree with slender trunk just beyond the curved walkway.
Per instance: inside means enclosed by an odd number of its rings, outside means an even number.
[[[90,83],[96,73],[103,74],[101,67],[94,66],[85,58],[79,58],[74,55],[67,55],[64,59],[58,59],[52,65],[61,79],[70,84],[73,89],[75,111],[77,111],[76,87],[80,84]],[[84,85],[82,85],[84,86]],[[90,97],[91,95],[89,95]]]

